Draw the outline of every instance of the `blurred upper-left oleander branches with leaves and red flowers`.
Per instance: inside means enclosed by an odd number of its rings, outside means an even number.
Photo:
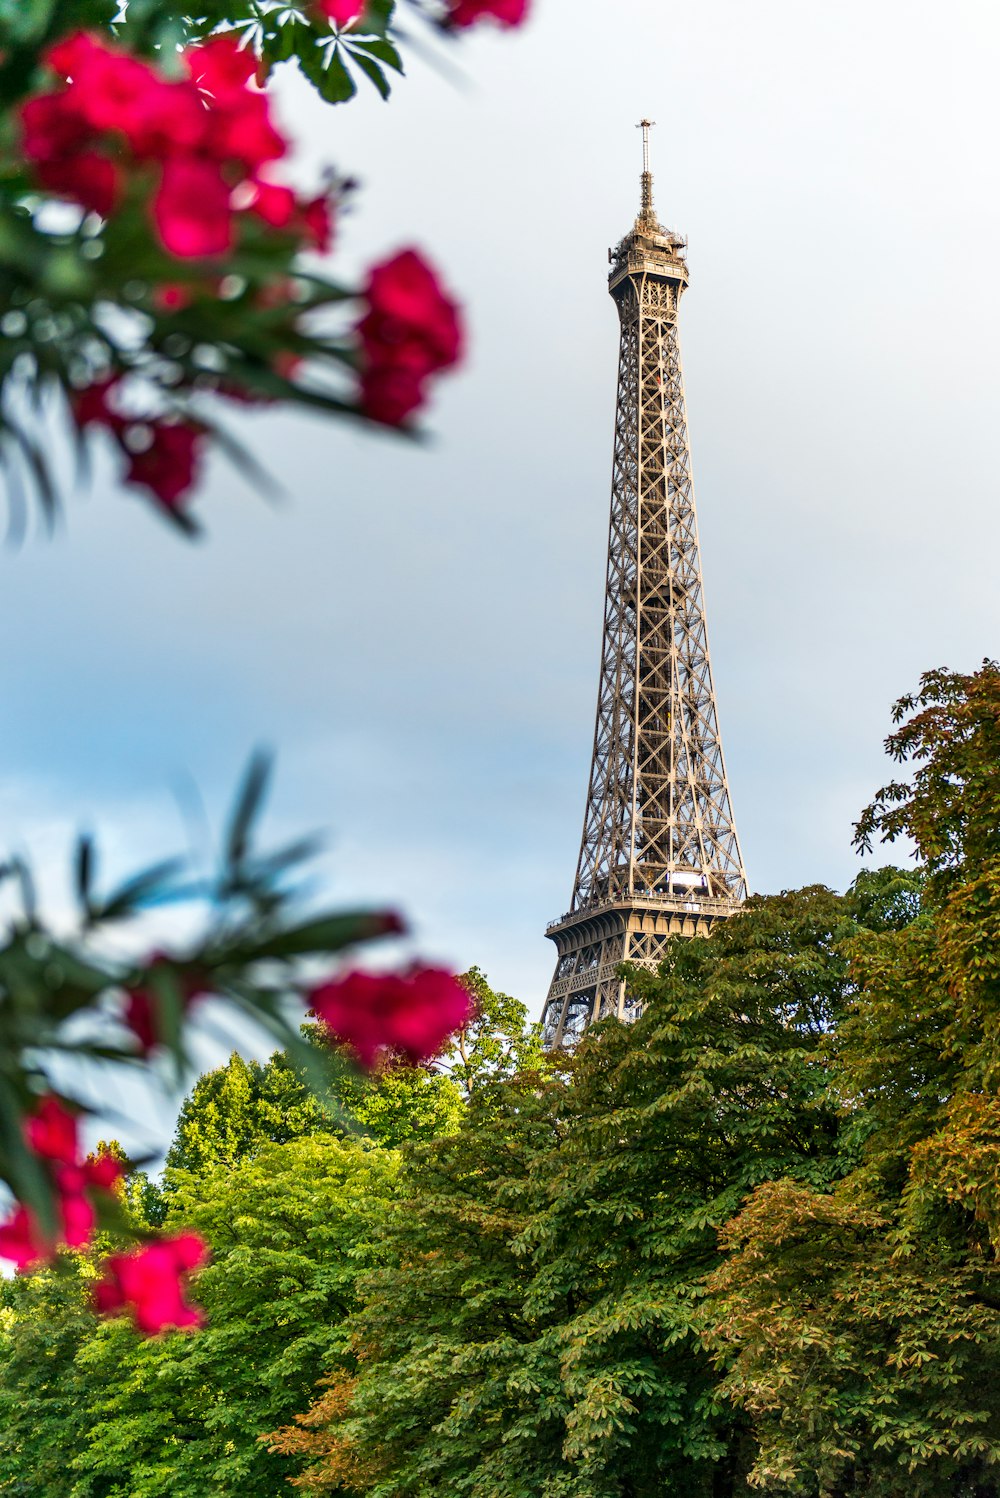
[[[504,4],[407,9],[443,34]],[[457,361],[457,309],[430,265],[407,252],[418,297],[412,283],[377,294],[389,262],[367,286],[331,279],[316,252],[346,183],[328,172],[299,199],[274,178],[290,142],[266,120],[271,72],[295,63],[329,103],[358,78],[386,97],[400,34],[394,0],[0,6],[0,463],[15,532],[27,496],[49,524],[58,512],[54,415],[79,473],[100,433],[124,481],[195,532],[210,439],[262,479],[219,418],[228,401],[401,425]]]

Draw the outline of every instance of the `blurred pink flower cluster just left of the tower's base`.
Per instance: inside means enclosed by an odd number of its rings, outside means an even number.
[[[436,1056],[475,1010],[467,989],[440,968],[350,972],[313,989],[308,1002],[368,1070],[386,1053],[410,1062]]]

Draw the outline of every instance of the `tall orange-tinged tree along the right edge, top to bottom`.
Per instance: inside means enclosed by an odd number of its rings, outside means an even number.
[[[711,1282],[723,1393],[768,1489],[1000,1494],[1000,671],[895,706],[858,839],[909,839],[918,917],[849,944],[826,1061],[856,1159],[832,1192],[760,1186]]]

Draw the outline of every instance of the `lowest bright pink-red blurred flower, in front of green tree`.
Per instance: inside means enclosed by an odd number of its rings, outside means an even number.
[[[184,1299],[184,1275],[198,1269],[208,1249],[196,1233],[178,1233],[105,1260],[105,1278],[93,1288],[102,1315],[129,1311],[147,1336],[168,1327],[201,1326],[204,1315]]]

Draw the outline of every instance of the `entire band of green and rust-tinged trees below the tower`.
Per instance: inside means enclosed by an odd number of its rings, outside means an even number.
[[[0,1492],[1000,1498],[999,733],[925,677],[858,828],[918,866],[750,899],[572,1055],[473,969],[421,1068],[202,1079],[127,1203],[208,1326],[7,1282]]]

